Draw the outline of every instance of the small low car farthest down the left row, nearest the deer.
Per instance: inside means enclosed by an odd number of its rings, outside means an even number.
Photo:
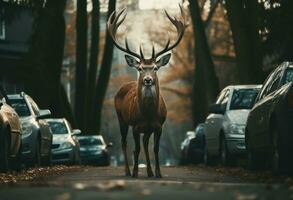
[[[112,143],[107,145],[103,136],[79,136],[78,140],[80,143],[80,155],[83,164],[103,166],[110,164],[108,147],[111,147]]]

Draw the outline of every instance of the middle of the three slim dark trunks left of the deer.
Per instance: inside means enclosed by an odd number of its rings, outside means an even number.
[[[87,121],[86,129],[87,132],[93,131],[90,130],[90,127],[93,127],[94,121],[94,112],[96,108],[95,104],[95,86],[98,70],[98,54],[99,54],[99,34],[100,34],[100,1],[92,0],[93,9],[91,17],[91,51],[90,51],[90,63],[89,63],[89,73],[88,73],[88,89],[87,89]]]

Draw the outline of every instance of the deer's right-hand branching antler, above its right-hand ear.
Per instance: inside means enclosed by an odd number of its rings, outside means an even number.
[[[168,38],[168,41],[167,41],[167,44],[165,46],[165,48],[161,51],[159,51],[158,53],[155,54],[155,56],[153,57],[153,59],[156,59],[157,57],[163,55],[164,53],[172,50],[174,47],[176,47],[179,42],[181,41],[182,37],[183,37],[183,34],[184,34],[184,31],[186,29],[186,27],[188,26],[185,22],[185,15],[184,15],[184,12],[183,12],[183,8],[182,6],[179,4],[179,7],[180,7],[180,12],[181,12],[181,16],[183,18],[183,21],[180,21],[180,20],[177,20],[176,17],[174,17],[174,19],[168,14],[168,12],[165,10],[165,14],[166,16],[168,17],[168,19],[172,22],[172,24],[175,26],[176,30],[177,30],[177,39],[176,39],[176,42],[169,46],[170,45],[170,37]],[[154,51],[154,47],[153,47],[153,51]]]

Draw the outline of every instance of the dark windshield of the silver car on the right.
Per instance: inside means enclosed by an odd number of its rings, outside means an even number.
[[[258,91],[258,89],[235,89],[230,110],[251,109]]]

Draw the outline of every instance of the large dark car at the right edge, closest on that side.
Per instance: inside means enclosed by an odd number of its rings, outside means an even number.
[[[251,169],[292,172],[293,63],[280,64],[265,80],[246,127]],[[266,162],[268,161],[268,162]]]

